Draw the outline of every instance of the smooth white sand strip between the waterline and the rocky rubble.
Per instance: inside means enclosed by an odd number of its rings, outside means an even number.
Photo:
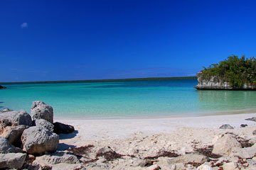
[[[153,135],[159,133],[171,133],[177,128],[210,128],[218,129],[220,125],[230,124],[234,128],[240,128],[241,124],[255,126],[252,118],[256,113],[237,115],[210,115],[186,118],[154,118],[154,119],[119,119],[119,120],[55,120],[61,123],[73,125],[76,134],[72,140],[60,142],[72,142],[79,145],[85,140],[115,140],[132,137],[134,134]],[[72,135],[70,136],[72,137]],[[70,138],[68,135],[60,138]]]

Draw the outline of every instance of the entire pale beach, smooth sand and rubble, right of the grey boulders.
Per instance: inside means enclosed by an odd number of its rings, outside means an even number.
[[[256,122],[245,120],[255,117],[256,113],[235,115],[210,115],[186,118],[152,118],[152,119],[119,119],[119,120],[55,120],[61,123],[73,125],[75,132],[69,135],[60,135],[58,150],[67,152],[68,147],[90,147],[86,157],[80,161],[84,164],[73,164],[69,169],[228,169],[232,162],[239,169],[254,169],[254,152],[250,158],[241,159],[245,152],[231,152],[220,159],[210,158],[203,162],[195,159],[195,149],[213,148],[215,142],[223,135],[231,135],[242,142],[256,142],[252,132],[256,129]],[[229,124],[234,129],[220,129],[221,125]],[[247,127],[241,128],[241,124]],[[240,141],[241,142],[241,141]],[[228,143],[232,145],[232,143]],[[251,147],[247,147],[251,148]],[[245,148],[245,149],[247,149]],[[108,161],[105,157],[95,156],[99,152],[112,152],[121,154],[122,158]],[[212,149],[211,149],[212,150]],[[255,150],[255,149],[253,149]],[[189,157],[189,160],[157,155],[161,153],[176,153]],[[189,156],[188,153],[193,153]],[[242,154],[243,153],[243,154]],[[199,154],[201,155],[201,154]],[[247,155],[247,152],[246,152]],[[150,166],[145,165],[146,157],[156,157],[150,160]],[[204,159],[204,158],[203,158]],[[227,161],[223,161],[226,159]],[[252,160],[253,159],[253,160]],[[241,160],[250,164],[240,163]],[[145,164],[144,164],[144,163]],[[176,162],[174,164],[174,162]],[[198,163],[196,163],[198,162]],[[215,164],[215,162],[221,162]],[[256,163],[256,162],[255,162]],[[202,165],[201,165],[202,164]],[[201,166],[199,166],[201,165]],[[61,169],[61,164],[53,166],[53,169]],[[234,168],[235,169],[235,168]]]

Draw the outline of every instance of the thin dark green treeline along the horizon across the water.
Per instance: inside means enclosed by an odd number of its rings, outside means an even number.
[[[26,81],[26,82],[0,82],[0,84],[46,84],[46,83],[78,83],[97,81],[142,81],[142,80],[174,80],[174,79],[197,79],[197,77],[149,77],[136,79],[95,79],[95,80],[70,80],[70,81]]]

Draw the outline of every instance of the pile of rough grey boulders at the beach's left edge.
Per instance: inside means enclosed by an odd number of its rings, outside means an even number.
[[[61,124],[56,127],[60,129],[58,132],[74,131],[73,126]],[[21,169],[31,157],[35,159],[33,155],[55,152],[59,135],[54,129],[53,108],[42,101],[33,102],[31,115],[8,108],[0,111],[0,169]],[[36,167],[39,166],[30,166],[30,169]]]

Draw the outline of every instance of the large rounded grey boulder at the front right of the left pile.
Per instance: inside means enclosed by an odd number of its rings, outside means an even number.
[[[59,136],[46,128],[33,126],[24,130],[21,135],[23,151],[28,154],[44,154],[55,152],[59,144]]]

